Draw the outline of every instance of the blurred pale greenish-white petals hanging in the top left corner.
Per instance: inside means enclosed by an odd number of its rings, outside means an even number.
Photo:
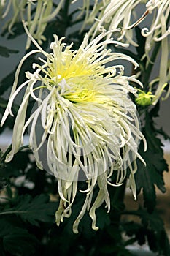
[[[31,35],[39,44],[42,44],[42,41],[46,39],[43,33],[47,23],[58,15],[63,3],[64,0],[58,1],[57,7],[54,8],[53,0],[1,0],[0,18],[5,18],[10,12],[13,13],[12,18],[5,24],[5,28],[7,27],[11,34],[13,34],[12,26],[25,20]],[[28,38],[26,49],[30,47],[30,43],[31,40]]]

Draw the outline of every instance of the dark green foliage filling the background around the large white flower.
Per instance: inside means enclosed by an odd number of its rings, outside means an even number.
[[[59,13],[58,17],[47,24],[45,37],[47,40],[43,43],[42,48],[49,49],[50,42],[53,41],[53,34],[58,30],[58,37],[66,37],[66,42],[74,42],[74,49],[77,49],[82,42],[85,30],[77,30],[77,23],[80,20],[74,20],[74,12],[69,12],[69,1]],[[72,30],[70,28],[72,27]],[[12,48],[12,39],[24,34],[22,23],[15,23],[12,28],[14,34],[9,34],[6,29],[1,37],[9,39],[11,48],[5,45],[0,46],[0,55],[9,57],[17,53]],[[70,32],[71,31],[71,32]],[[148,80],[152,72],[146,70],[145,60],[141,61],[144,54],[144,38],[140,34],[140,29],[136,28],[136,40],[139,47],[136,51],[115,48],[132,56],[139,62],[139,68],[142,71],[139,80],[144,81],[146,74]],[[159,43],[155,44],[159,48]],[[34,49],[34,45],[28,50]],[[134,53],[135,52],[135,53]],[[31,63],[34,57],[30,57],[23,65],[20,72],[31,71]],[[155,61],[157,55],[152,56]],[[37,60],[36,60],[37,61]],[[0,83],[0,115],[4,113],[7,106],[5,94],[12,87],[15,70],[1,80]],[[24,77],[20,76],[19,84]],[[144,81],[144,89],[148,89],[148,80]],[[29,105],[29,111],[32,109],[32,102]],[[136,211],[128,211],[125,208],[125,184],[122,187],[109,187],[111,200],[111,211],[109,214],[104,206],[96,211],[97,224],[100,228],[97,232],[91,229],[91,220],[88,214],[80,222],[80,233],[72,233],[72,224],[80,211],[84,202],[84,195],[78,193],[72,211],[72,216],[65,219],[57,227],[55,225],[55,211],[58,208],[58,191],[57,180],[47,172],[39,170],[34,162],[34,157],[28,146],[20,148],[18,154],[15,154],[12,162],[5,163],[4,159],[7,151],[0,152],[0,255],[131,255],[126,249],[129,244],[135,242],[148,244],[152,252],[158,252],[159,255],[170,255],[169,240],[164,228],[163,219],[159,217],[156,208],[155,187],[166,192],[163,181],[163,172],[168,171],[168,165],[163,159],[163,149],[160,135],[165,139],[170,139],[169,135],[158,129],[155,121],[159,116],[160,102],[155,106],[141,107],[138,106],[139,115],[142,121],[142,132],[147,139],[147,152],[143,153],[142,144],[139,146],[139,154],[147,162],[147,167],[139,161],[138,171],[136,173],[137,193],[142,194],[144,204]],[[13,108],[13,113],[17,113],[18,105]],[[28,111],[28,116],[29,112]],[[5,128],[12,129],[14,119],[9,117],[4,127],[0,131],[4,132]],[[150,161],[152,159],[152,161]],[[79,182],[82,189],[83,182]],[[97,192],[97,191],[96,191]],[[140,221],[125,221],[124,216],[137,216]]]

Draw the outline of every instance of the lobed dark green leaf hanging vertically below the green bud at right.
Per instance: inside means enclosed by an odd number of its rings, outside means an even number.
[[[142,162],[137,161],[138,171],[136,172],[136,187],[140,192],[143,189],[144,206],[147,207],[149,212],[152,212],[155,208],[155,185],[161,192],[166,192],[163,181],[163,172],[168,171],[168,165],[163,158],[163,144],[161,139],[157,138],[157,132],[155,132],[154,122],[152,120],[151,113],[146,114],[146,124],[142,133],[147,140],[147,151],[144,152],[142,144],[139,147],[139,154],[146,162],[146,167]]]

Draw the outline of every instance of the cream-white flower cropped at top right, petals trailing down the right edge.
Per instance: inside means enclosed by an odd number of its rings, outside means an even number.
[[[156,42],[161,42],[161,61],[158,78],[155,78],[150,83],[150,90],[152,91],[152,84],[158,83],[158,87],[155,91],[155,99],[152,104],[158,102],[161,94],[169,83],[170,80],[170,64],[169,64],[169,18],[170,18],[170,0],[106,0],[95,1],[93,10],[90,10],[90,2],[87,1],[84,4],[85,21],[82,29],[87,25],[90,26],[88,34],[94,38],[102,30],[114,31],[114,37],[118,41],[126,41],[131,45],[138,46],[134,39],[134,27],[139,25],[142,29],[142,36],[146,37],[144,45],[145,54],[143,59],[147,57],[147,67],[150,65],[152,49],[155,47]],[[136,10],[142,8],[142,16],[138,16]],[[96,22],[94,20],[96,19]],[[144,27],[142,21],[147,21],[147,26]],[[120,29],[118,32],[117,29]],[[107,39],[112,37],[112,32],[107,34]],[[166,97],[169,97],[169,90],[166,93]]]

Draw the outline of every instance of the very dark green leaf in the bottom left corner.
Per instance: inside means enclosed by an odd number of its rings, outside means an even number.
[[[12,255],[33,255],[38,242],[36,237],[28,233],[24,226],[23,228],[18,227],[3,218],[0,221],[0,238],[4,251],[10,252]]]

